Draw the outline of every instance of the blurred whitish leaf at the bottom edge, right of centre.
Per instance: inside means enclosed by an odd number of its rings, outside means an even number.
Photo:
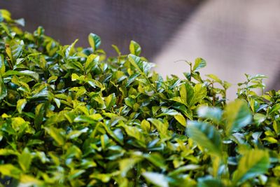
[[[144,172],[142,173],[142,175],[145,177],[147,181],[150,181],[156,186],[160,186],[160,187],[169,186],[167,176],[165,176],[164,174],[159,174],[155,172]]]

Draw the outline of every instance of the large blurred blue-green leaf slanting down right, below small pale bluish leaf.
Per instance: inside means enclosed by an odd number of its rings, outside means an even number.
[[[221,135],[214,126],[198,121],[189,121],[186,129],[188,137],[193,139],[209,153],[221,156]]]

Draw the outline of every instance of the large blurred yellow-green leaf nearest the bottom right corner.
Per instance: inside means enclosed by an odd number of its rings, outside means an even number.
[[[235,184],[244,183],[248,179],[253,179],[260,174],[265,174],[269,168],[269,154],[260,149],[247,151],[239,160],[237,170],[232,176]]]

